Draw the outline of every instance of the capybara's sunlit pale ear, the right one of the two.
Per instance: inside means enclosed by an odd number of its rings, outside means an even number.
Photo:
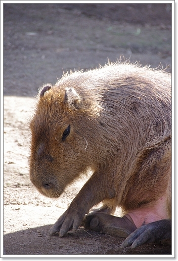
[[[76,91],[73,88],[66,88],[65,89],[65,103],[69,106],[71,109],[79,109],[80,107],[80,97],[76,93]]]

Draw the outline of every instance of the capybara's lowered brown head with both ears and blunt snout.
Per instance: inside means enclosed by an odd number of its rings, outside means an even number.
[[[30,180],[48,197],[59,197],[67,184],[91,170],[96,161],[93,160],[95,148],[91,146],[98,137],[92,94],[91,99],[86,95],[81,98],[73,88],[77,84],[75,77],[74,82],[61,83],[47,84],[39,90],[38,104],[30,122]],[[100,108],[97,114],[99,111]]]

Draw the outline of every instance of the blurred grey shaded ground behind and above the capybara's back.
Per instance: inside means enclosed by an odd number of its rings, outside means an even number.
[[[121,55],[171,72],[171,4],[4,4],[5,95]]]

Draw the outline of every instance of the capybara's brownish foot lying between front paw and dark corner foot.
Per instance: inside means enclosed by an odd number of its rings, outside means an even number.
[[[102,231],[106,234],[117,235],[119,237],[128,237],[137,229],[135,224],[127,219],[126,216],[119,218],[118,216],[106,213],[90,213],[83,219],[85,229]]]

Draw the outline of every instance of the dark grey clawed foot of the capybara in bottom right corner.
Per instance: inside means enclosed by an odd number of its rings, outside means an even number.
[[[171,220],[159,220],[136,229],[121,244],[121,248],[136,248],[144,243],[171,239]],[[168,241],[167,241],[168,242]],[[171,243],[171,240],[169,241]]]

